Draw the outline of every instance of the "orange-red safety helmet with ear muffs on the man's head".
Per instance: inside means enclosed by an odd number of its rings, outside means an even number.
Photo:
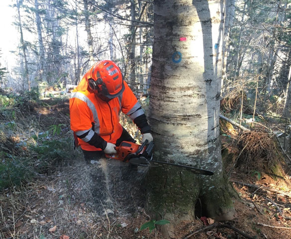
[[[125,89],[120,68],[109,60],[100,61],[91,68],[88,84],[109,99],[120,96]]]

